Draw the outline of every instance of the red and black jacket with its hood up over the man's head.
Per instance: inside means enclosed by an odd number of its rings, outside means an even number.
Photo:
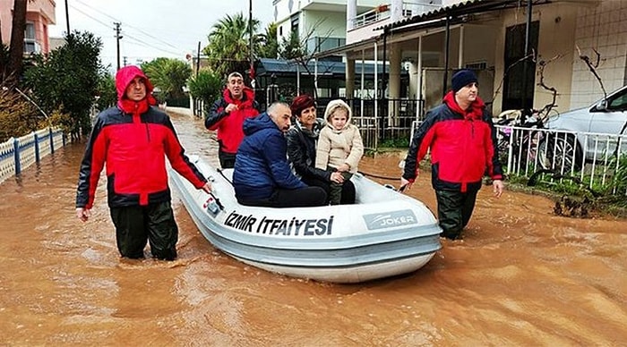
[[[137,103],[120,98],[118,106],[98,115],[82,158],[76,207],[91,208],[100,172],[107,164],[109,207],[145,206],[168,201],[166,160],[200,189],[207,180],[185,156],[167,114],[149,106],[152,86],[139,68],[116,77],[118,97],[137,76],[146,80],[149,97]],[[145,104],[143,102],[146,102]],[[133,107],[133,104],[137,104]],[[133,112],[123,109],[134,108]],[[140,112],[143,111],[143,112]]]

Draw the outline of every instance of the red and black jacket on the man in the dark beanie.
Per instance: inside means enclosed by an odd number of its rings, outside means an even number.
[[[484,102],[462,110],[452,92],[442,105],[427,112],[409,146],[403,178],[413,182],[417,163],[431,148],[432,185],[435,190],[478,190],[484,174],[502,179],[496,148],[496,130]]]

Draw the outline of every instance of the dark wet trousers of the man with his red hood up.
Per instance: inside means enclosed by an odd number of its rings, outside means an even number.
[[[153,258],[174,260],[178,227],[169,201],[148,206],[112,207],[117,250],[125,258],[143,258],[150,241]]]

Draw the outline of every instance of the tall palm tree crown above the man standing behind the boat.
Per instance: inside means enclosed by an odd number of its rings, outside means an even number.
[[[243,13],[226,17],[213,25],[209,38],[209,46],[202,53],[209,57],[210,68],[219,75],[228,72],[244,72],[248,68],[250,58],[250,37],[248,20]],[[253,32],[257,32],[260,22],[253,19]],[[262,35],[253,35],[253,53],[258,52]]]

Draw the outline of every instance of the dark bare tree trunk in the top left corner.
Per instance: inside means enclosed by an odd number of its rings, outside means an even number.
[[[9,62],[4,76],[18,80],[21,75],[21,61],[24,56],[24,30],[26,30],[27,0],[13,0],[13,27],[11,29],[11,47]]]

